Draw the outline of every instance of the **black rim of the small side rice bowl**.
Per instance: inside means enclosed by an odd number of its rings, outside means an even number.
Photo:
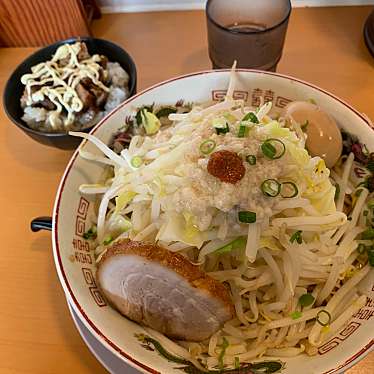
[[[101,39],[101,38],[95,38],[95,37],[91,37],[91,36],[80,36],[80,37],[72,37],[72,38],[68,38],[68,39],[64,39],[64,40],[59,40],[57,42],[54,42],[52,44],[48,44],[47,46],[44,46],[44,47],[41,47],[39,49],[37,49],[35,52],[33,52],[31,55],[27,56],[23,61],[21,61],[17,67],[12,71],[12,73],[10,74],[9,78],[7,79],[7,82],[5,84],[5,88],[4,88],[4,92],[3,92],[3,108],[4,108],[4,111],[7,115],[7,117],[17,126],[19,127],[20,129],[22,129],[23,131],[26,131],[30,134],[33,134],[33,135],[38,135],[38,136],[45,136],[47,138],[62,138],[62,137],[69,137],[69,134],[67,132],[43,132],[43,131],[38,131],[38,130],[35,130],[35,129],[32,129],[31,127],[28,127],[27,125],[25,125],[21,120],[18,120],[17,118],[13,117],[13,115],[11,115],[9,113],[9,110],[8,110],[8,107],[6,105],[6,96],[8,95],[8,91],[9,91],[9,86],[10,86],[10,83],[14,78],[15,74],[18,72],[18,70],[24,65],[24,64],[28,64],[30,60],[32,60],[34,57],[38,56],[41,52],[43,52],[44,50],[46,50],[47,48],[58,48],[60,47],[61,45],[63,44],[71,44],[73,42],[76,42],[76,41],[89,41],[89,40],[92,40],[92,41],[99,41],[99,42],[104,42],[108,45],[110,45],[111,47],[114,47],[114,48],[118,48],[122,51],[122,53],[124,53],[124,55],[126,56],[126,58],[128,58],[129,60],[129,64],[131,66],[131,72],[127,72],[129,74],[129,76],[132,78],[132,86],[129,87],[129,98],[132,97],[133,95],[135,95],[136,93],[136,85],[137,85],[137,70],[136,70],[136,64],[135,64],[135,61],[134,59],[131,57],[131,55],[124,49],[122,48],[121,46],[119,46],[118,44],[116,43],[113,43],[112,41],[110,40],[106,40],[106,39]],[[19,102],[19,99],[18,99],[18,102]],[[115,109],[114,109],[115,110]],[[110,113],[108,113],[110,114]],[[95,126],[95,125],[92,125],[90,127],[87,127],[85,128],[84,130],[82,131],[85,131],[85,132],[89,132],[91,131]]]

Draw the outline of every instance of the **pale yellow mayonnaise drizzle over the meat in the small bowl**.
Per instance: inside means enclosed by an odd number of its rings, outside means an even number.
[[[56,109],[50,112],[49,122],[54,129],[70,126],[75,120],[75,114],[83,109],[83,102],[79,98],[75,87],[83,78],[89,78],[96,86],[108,92],[109,88],[100,81],[99,55],[78,61],[81,43],[64,44],[59,47],[52,60],[42,62],[31,68],[30,74],[24,74],[21,82],[26,86],[26,105],[44,100],[48,97],[55,104]],[[69,57],[69,62],[61,67],[58,61]],[[40,86],[32,93],[31,87]],[[67,117],[61,121],[61,112],[65,109]]]

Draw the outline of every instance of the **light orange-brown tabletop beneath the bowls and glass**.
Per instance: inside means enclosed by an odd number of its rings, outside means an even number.
[[[374,118],[374,59],[362,28],[371,7],[294,9],[280,73],[319,85]],[[138,68],[138,88],[210,68],[202,11],[104,15],[95,36],[122,45]],[[0,95],[32,48],[0,49]],[[1,104],[2,105],[2,104]],[[48,232],[32,218],[50,215],[71,152],[40,145],[0,110],[0,372],[104,373],[70,317]],[[374,372],[374,352],[350,374]]]

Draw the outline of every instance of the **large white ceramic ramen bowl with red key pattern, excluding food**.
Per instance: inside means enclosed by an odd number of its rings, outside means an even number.
[[[157,84],[121,104],[92,134],[109,142],[131,110],[145,104],[174,104],[181,99],[195,103],[220,100],[228,82],[229,71],[221,70],[189,74]],[[258,105],[262,95],[273,101],[275,110],[281,110],[290,101],[314,99],[342,128],[356,134],[374,150],[374,132],[365,117],[334,95],[291,77],[238,70],[234,97],[247,100],[249,105]],[[87,142],[80,147],[98,152]],[[83,323],[118,357],[145,373],[183,373],[178,368],[184,365],[169,362],[156,350],[145,349],[136,337],[144,333],[142,327],[108,306],[97,288],[93,254],[82,237],[90,226],[94,204],[80,195],[78,187],[82,183],[94,183],[101,172],[99,165],[81,159],[75,152],[62,178],[53,214],[53,248],[61,284]],[[338,373],[370,351],[374,343],[374,318],[370,318],[374,314],[374,284],[367,283],[367,295],[371,298],[367,306],[320,347],[316,356],[281,359],[285,364],[282,373]]]

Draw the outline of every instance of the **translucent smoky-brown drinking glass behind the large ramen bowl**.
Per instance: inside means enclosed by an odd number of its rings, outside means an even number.
[[[214,69],[275,71],[282,56],[290,0],[208,0],[209,57]]]

